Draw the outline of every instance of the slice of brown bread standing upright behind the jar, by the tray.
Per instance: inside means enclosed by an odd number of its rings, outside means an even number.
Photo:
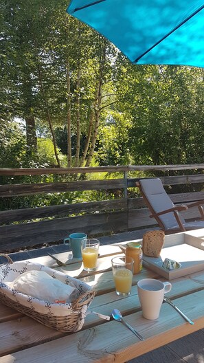
[[[142,241],[142,252],[146,256],[159,257],[163,248],[164,236],[163,230],[145,232]]]

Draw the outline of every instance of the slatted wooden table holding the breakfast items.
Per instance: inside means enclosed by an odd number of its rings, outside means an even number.
[[[180,243],[183,234],[166,236],[166,243]],[[78,333],[61,333],[49,329],[32,318],[1,304],[0,306],[0,362],[2,363],[56,363],[56,362],[126,362],[148,351],[161,347],[204,327],[204,270],[171,281],[172,290],[167,295],[183,312],[194,320],[194,325],[183,318],[167,303],[163,303],[158,320],[142,317],[137,296],[137,281],[141,278],[164,278],[143,268],[133,276],[131,296],[121,298],[115,294],[111,272],[111,259],[122,253],[116,245],[100,247],[97,271],[88,275],[82,270],[82,262],[67,260],[67,252],[58,259],[67,261],[66,267],[57,267],[49,257],[33,259],[57,268],[71,276],[80,276],[96,290],[90,310],[111,316],[114,308],[120,309],[125,319],[146,339],[139,340],[120,322],[106,321],[89,314]],[[203,265],[204,269],[204,265]]]

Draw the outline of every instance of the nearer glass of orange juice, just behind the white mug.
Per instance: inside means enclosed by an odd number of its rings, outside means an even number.
[[[131,294],[134,260],[129,256],[117,256],[111,260],[117,295]]]

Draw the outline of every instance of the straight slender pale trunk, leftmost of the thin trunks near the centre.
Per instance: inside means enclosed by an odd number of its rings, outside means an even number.
[[[70,99],[70,74],[67,59],[67,167],[71,168],[71,99]]]

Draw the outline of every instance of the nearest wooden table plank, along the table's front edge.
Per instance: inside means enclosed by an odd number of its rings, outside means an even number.
[[[5,355],[1,358],[1,362],[56,363],[59,360],[82,363],[126,362],[126,360],[131,360],[181,336],[201,329],[204,326],[203,299],[204,291],[201,291],[193,294],[191,298],[184,296],[176,300],[177,305],[183,306],[183,311],[186,314],[191,312],[192,319],[195,320],[194,325],[185,322],[167,304],[163,304],[161,307],[158,320],[144,319],[141,316],[141,311],[126,316],[126,321],[131,323],[146,338],[144,342],[138,340],[131,331],[119,322],[111,321],[53,342],[38,345],[38,347]]]

